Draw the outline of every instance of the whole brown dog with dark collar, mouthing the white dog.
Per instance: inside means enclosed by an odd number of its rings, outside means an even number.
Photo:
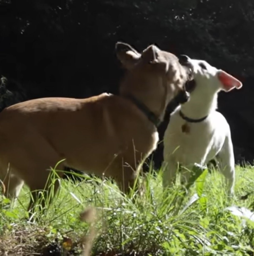
[[[0,114],[0,179],[8,196],[17,197],[24,181],[36,199],[34,190],[44,189],[49,167],[62,159],[57,169],[112,176],[124,192],[133,185],[141,161],[157,146],[167,104],[185,92],[191,71],[154,45],[140,54],[118,42],[116,53],[128,70],[120,96],[41,98]]]

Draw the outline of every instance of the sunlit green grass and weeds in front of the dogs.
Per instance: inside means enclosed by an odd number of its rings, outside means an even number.
[[[62,180],[59,195],[36,223],[26,219],[25,187],[16,206],[0,198],[0,255],[88,255],[89,246],[91,255],[108,256],[253,255],[254,221],[226,209],[253,211],[254,195],[243,197],[254,189],[253,175],[251,167],[236,168],[234,199],[226,198],[217,171],[201,177],[185,196],[180,187],[163,193],[161,172],[150,172],[136,200],[108,180]]]

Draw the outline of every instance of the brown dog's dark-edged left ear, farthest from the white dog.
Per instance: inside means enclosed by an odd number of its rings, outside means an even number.
[[[126,43],[117,42],[115,49],[117,58],[121,61],[126,69],[132,68],[133,65],[140,59],[140,53]]]

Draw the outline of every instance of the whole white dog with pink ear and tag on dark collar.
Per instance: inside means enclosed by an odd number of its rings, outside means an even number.
[[[216,157],[226,177],[227,193],[234,193],[235,159],[229,125],[216,111],[219,91],[240,89],[242,83],[223,70],[203,60],[181,55],[180,63],[194,71],[194,80],[186,84],[189,101],[171,114],[164,135],[164,187],[175,182],[178,164],[191,170]],[[185,169],[185,168],[184,168]],[[181,172],[181,181],[188,181],[190,171]]]

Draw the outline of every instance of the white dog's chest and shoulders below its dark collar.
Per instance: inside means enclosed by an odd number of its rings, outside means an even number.
[[[187,125],[187,129],[182,129]],[[172,114],[164,135],[164,158],[172,155],[183,164],[205,163],[220,151],[226,136],[227,122],[218,112],[205,121],[187,123],[179,112]]]

